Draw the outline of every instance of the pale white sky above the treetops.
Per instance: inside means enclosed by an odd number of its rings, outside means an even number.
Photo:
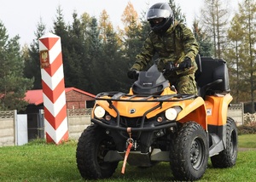
[[[22,46],[25,43],[32,43],[40,18],[46,25],[46,32],[52,30],[59,5],[67,24],[72,22],[74,10],[79,15],[88,13],[99,20],[102,10],[105,9],[113,26],[117,27],[122,25],[121,15],[129,1],[140,17],[142,12],[147,11],[154,3],[169,2],[169,0],[0,0],[0,21],[7,29],[9,37],[20,36]],[[238,1],[231,0],[230,6],[236,8]],[[193,20],[195,17],[198,18],[203,8],[203,0],[176,0],[175,3],[182,9],[191,28]]]

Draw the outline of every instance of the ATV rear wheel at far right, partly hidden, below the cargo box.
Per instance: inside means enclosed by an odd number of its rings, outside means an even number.
[[[236,122],[228,117],[226,127],[226,148],[217,156],[212,156],[214,168],[230,168],[236,164],[237,157],[237,128]]]

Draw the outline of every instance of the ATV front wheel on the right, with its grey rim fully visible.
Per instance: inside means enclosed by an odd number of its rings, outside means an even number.
[[[170,152],[172,173],[179,180],[196,180],[207,170],[207,133],[196,122],[184,123],[173,140]]]

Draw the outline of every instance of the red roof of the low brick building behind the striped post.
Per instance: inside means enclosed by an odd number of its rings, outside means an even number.
[[[96,95],[90,94],[88,92],[84,92],[83,90],[80,90],[79,88],[65,88],[66,94],[70,91],[76,91],[81,94],[88,95],[92,98],[95,98]],[[37,89],[37,90],[27,90],[25,100],[32,105],[41,105],[44,103],[43,100],[43,89]]]

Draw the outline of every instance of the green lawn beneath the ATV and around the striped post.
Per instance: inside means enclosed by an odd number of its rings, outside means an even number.
[[[240,135],[239,147],[256,148],[256,134]],[[0,148],[0,181],[86,181],[81,178],[76,166],[75,141],[62,145],[46,144],[42,140],[27,145]],[[152,168],[136,168],[129,165],[121,174],[122,162],[111,179],[98,181],[172,181],[168,162]],[[254,181],[256,179],[256,151],[238,152],[233,168],[212,168],[199,181]]]

